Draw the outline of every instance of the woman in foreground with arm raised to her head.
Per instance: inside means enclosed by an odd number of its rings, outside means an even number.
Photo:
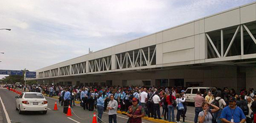
[[[210,109],[209,107],[213,107],[213,109]],[[207,102],[202,104],[202,108],[203,111],[199,113],[199,123],[216,123],[213,113],[218,112],[220,108]]]

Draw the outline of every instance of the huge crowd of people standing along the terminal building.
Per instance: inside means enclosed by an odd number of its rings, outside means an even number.
[[[97,108],[98,122],[104,111],[109,112],[109,122],[117,122],[117,111],[126,112],[129,122],[142,122],[144,116],[158,118],[169,122],[185,121],[187,103],[185,88],[180,87],[138,87],[138,86],[59,86],[27,85],[18,86],[31,92],[42,92],[49,97],[59,96],[60,104],[67,113],[68,105],[75,106],[80,101],[84,110]],[[256,95],[253,88],[236,93],[234,89],[217,88],[215,92],[194,97],[195,123],[255,123]],[[160,112],[162,108],[162,112]],[[177,113],[175,115],[175,109]],[[162,114],[162,115],[161,115]],[[162,116],[162,117],[161,117]],[[176,117],[176,120],[175,120]]]

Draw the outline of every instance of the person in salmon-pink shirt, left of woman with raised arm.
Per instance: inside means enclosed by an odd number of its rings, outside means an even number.
[[[195,100],[195,119],[194,122],[197,123],[199,112],[203,111],[202,104],[205,101],[204,97],[201,95],[200,91],[197,91]]]

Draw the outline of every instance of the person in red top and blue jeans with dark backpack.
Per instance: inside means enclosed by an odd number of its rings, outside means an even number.
[[[169,122],[174,122],[174,108],[176,107],[176,97],[172,96],[172,92],[170,94],[168,94],[168,96],[166,97],[166,101],[168,103],[168,121]],[[171,114],[172,114],[172,120],[171,120]]]

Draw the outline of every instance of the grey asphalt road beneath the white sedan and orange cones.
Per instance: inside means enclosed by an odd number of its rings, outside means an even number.
[[[48,108],[49,108],[47,114],[42,114],[41,112],[27,112],[24,114],[19,114],[18,111],[15,110],[15,96],[17,96],[17,94],[15,94],[14,92],[8,91],[5,88],[0,88],[0,96],[12,123],[35,123],[35,122],[36,123],[45,123],[45,122],[90,123],[92,122],[92,119],[93,119],[93,112],[84,111],[79,106],[76,106],[72,109],[76,113],[76,115],[82,119],[76,117],[73,112],[72,112],[73,116],[71,117],[65,116],[65,114],[63,113],[63,108],[59,106],[58,106],[59,111],[52,111],[56,99],[52,99],[49,97],[46,97],[48,101]],[[2,104],[1,104],[1,111],[3,111]],[[97,114],[97,111],[94,111],[94,112],[96,112]],[[3,114],[3,117],[5,117],[5,113],[2,112],[2,114]],[[102,120],[105,122],[108,122],[107,113],[103,114]],[[118,123],[126,123],[127,117],[125,115],[118,114],[117,121]],[[3,122],[6,122],[6,121],[3,121]],[[143,122],[153,123],[152,121],[147,121],[147,120],[143,120]]]

